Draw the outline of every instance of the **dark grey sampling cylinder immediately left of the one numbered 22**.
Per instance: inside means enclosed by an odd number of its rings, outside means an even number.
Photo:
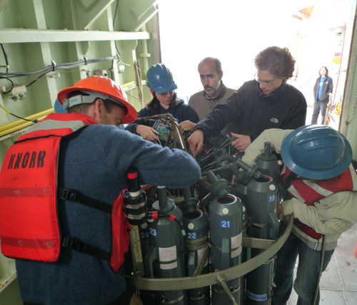
[[[145,272],[147,277],[172,278],[184,277],[185,244],[183,239],[182,212],[176,207],[174,200],[168,199],[166,189],[158,187],[159,200],[154,202],[153,211],[159,217],[149,220],[149,251],[145,256]],[[168,215],[176,218],[169,219]],[[186,291],[156,291],[160,302],[174,305],[186,305]]]

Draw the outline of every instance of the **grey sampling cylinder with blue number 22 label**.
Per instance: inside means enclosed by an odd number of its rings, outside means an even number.
[[[186,232],[188,276],[209,273],[208,217],[196,209],[197,201],[196,198],[191,198],[181,202],[183,228]],[[208,305],[211,303],[210,287],[190,289],[187,291],[187,298],[188,305]]]

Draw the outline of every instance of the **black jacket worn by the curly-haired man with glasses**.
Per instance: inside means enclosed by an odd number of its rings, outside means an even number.
[[[303,94],[291,85],[283,83],[276,91],[265,95],[257,81],[247,81],[226,103],[217,105],[194,130],[202,130],[207,140],[234,122],[239,133],[249,135],[253,142],[266,129],[296,129],[305,125],[306,107]]]

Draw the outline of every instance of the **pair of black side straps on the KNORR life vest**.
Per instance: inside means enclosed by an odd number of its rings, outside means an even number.
[[[93,207],[96,210],[100,210],[102,212],[106,212],[111,214],[112,206],[108,205],[105,202],[101,202],[100,200],[96,200],[91,197],[87,197],[86,195],[82,195],[75,190],[65,189],[64,187],[57,188],[57,197],[62,200],[71,200],[74,202],[79,202],[81,205],[86,205],[87,207]],[[104,259],[106,261],[111,260],[111,252],[106,252],[99,248],[93,247],[89,244],[85,244],[81,242],[76,237],[66,236],[62,240],[62,246],[66,248],[74,249],[78,252],[86,253],[92,255],[94,257],[99,257],[100,259]]]

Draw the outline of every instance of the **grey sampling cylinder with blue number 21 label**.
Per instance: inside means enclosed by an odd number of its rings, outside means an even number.
[[[242,213],[241,200],[234,196],[217,197],[209,205],[209,227],[211,241],[211,271],[228,269],[241,264],[242,252]],[[243,304],[241,277],[227,281],[231,293],[238,304]],[[212,286],[212,304],[229,304],[223,287]]]

